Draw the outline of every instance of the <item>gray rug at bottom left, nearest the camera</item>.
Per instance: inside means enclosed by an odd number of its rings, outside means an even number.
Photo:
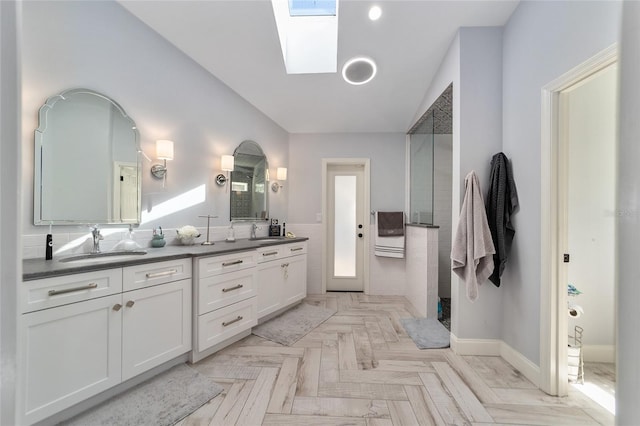
[[[173,425],[206,404],[223,387],[180,364],[63,424],[73,426]]]

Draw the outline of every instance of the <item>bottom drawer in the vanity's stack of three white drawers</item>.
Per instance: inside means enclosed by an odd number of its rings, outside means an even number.
[[[198,351],[202,352],[258,324],[255,297],[198,317]]]

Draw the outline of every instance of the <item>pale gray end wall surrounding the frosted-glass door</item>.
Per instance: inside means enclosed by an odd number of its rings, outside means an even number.
[[[309,237],[307,290],[322,288],[322,159],[369,158],[371,209],[404,210],[405,150],[403,133],[292,134],[289,139],[289,192],[287,229]],[[370,239],[371,294],[404,295],[404,259],[374,256]]]

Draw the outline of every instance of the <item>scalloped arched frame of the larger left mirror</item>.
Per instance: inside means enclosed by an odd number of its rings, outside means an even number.
[[[55,219],[45,220],[42,217],[42,147],[46,141],[45,132],[47,130],[47,119],[49,112],[59,101],[65,101],[74,95],[88,94],[96,96],[100,99],[104,99],[111,103],[116,110],[122,114],[122,118],[128,121],[131,125],[131,130],[134,137],[134,149],[136,151],[136,164],[137,164],[137,215],[135,221],[109,221],[109,214],[106,214],[104,220],[97,220],[97,218],[87,220],[67,220],[67,219]],[[34,173],[33,173],[33,223],[34,225],[78,225],[78,224],[101,224],[101,225],[115,225],[115,224],[132,224],[139,225],[142,217],[142,164],[140,158],[140,133],[135,121],[127,115],[125,110],[113,99],[109,98],[102,93],[96,92],[91,89],[75,88],[65,90],[57,95],[51,96],[40,107],[38,112],[38,128],[35,130],[34,137]]]

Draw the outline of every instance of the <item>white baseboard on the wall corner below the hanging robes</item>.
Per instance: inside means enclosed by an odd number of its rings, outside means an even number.
[[[458,355],[499,356],[536,386],[540,386],[540,367],[499,339],[459,339],[453,333],[451,349]]]

